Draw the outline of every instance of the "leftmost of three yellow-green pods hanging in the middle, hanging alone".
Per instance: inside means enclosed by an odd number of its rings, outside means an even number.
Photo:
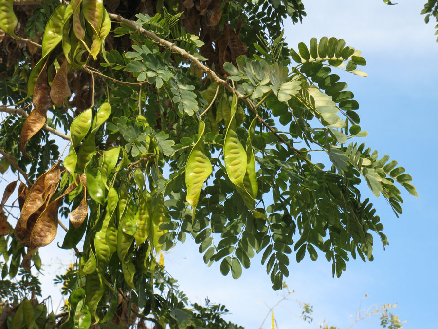
[[[193,219],[195,218],[195,210],[201,194],[201,188],[205,180],[210,176],[213,167],[208,157],[204,154],[205,123],[200,121],[198,130],[198,141],[193,146],[187,158],[185,167],[185,185],[187,186],[187,202],[193,208]]]

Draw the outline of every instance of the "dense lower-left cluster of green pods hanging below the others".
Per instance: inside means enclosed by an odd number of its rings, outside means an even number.
[[[73,324],[81,313],[87,321],[91,322],[91,317],[96,323],[100,321],[98,304],[104,296],[105,286],[115,291],[117,275],[111,275],[112,282],[104,276],[110,262],[120,262],[126,284],[135,291],[134,275],[152,275],[153,252],[160,250],[158,239],[166,232],[159,230],[159,226],[167,221],[165,213],[168,210],[162,194],[154,191],[155,197],[152,197],[146,189],[137,187],[137,191],[130,193],[125,183],[118,191],[111,186],[104,210],[96,203],[91,204],[91,234],[86,237],[79,266],[79,275],[85,276],[85,286],[73,291],[84,302],[70,305],[76,312],[71,311],[68,323]],[[113,312],[107,313],[106,318],[112,318]]]

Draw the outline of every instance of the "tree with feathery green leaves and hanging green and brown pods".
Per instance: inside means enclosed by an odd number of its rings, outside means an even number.
[[[133,313],[140,328],[228,328],[207,320],[220,307],[189,310],[157,265],[160,250],[192,235],[205,263],[235,279],[261,252],[279,290],[292,247],[297,262],[319,250],[339,277],[350,257],[373,260],[375,237],[388,243],[362,180],[396,215],[398,186],[417,196],[397,161],[348,141],[366,132],[332,71],[365,77],[361,52],[334,37],[286,44],[282,20],[302,20],[301,1],[0,0],[0,9],[9,114],[0,169],[20,181],[13,230],[3,211],[14,216],[6,203],[18,180],[1,203],[2,276],[21,264],[30,289],[12,298],[11,321],[113,328]],[[40,268],[58,214],[69,218],[60,248],[78,258],[59,279],[68,314],[38,320],[28,271]]]

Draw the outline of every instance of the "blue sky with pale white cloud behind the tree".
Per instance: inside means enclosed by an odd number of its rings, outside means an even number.
[[[376,206],[390,245],[383,251],[375,239],[375,260],[351,260],[339,279],[332,278],[331,264],[322,253],[316,262],[306,255],[299,264],[292,253],[285,282],[295,292],[274,309],[278,328],[318,328],[318,322],[326,320],[347,329],[361,307],[387,303],[398,303],[394,313],[407,321],[403,328],[438,327],[434,316],[438,307],[438,65],[434,62],[438,44],[433,22],[424,24],[420,15],[425,1],[400,0],[386,6],[381,0],[306,0],[308,17],[303,24],[285,22],[286,41],[295,49],[301,41],[309,44],[311,37],[327,36],[345,39],[347,45],[362,50],[368,77],[338,73],[360,103],[361,127],[369,133],[358,141],[377,149],[380,157],[389,154],[399,161],[413,176],[420,197],[402,191],[403,214],[396,218],[384,199],[374,197],[365,185],[363,195]],[[1,185],[4,188],[6,182]],[[52,294],[55,310],[60,287],[54,287],[52,280],[74,259],[72,252],[56,247],[64,236],[58,232],[55,241],[40,250],[45,268],[45,275],[40,276],[43,296]],[[164,253],[164,259],[166,270],[179,280],[192,302],[203,303],[208,296],[212,302],[225,304],[232,312],[227,319],[245,328],[258,328],[269,309],[283,298],[271,289],[258,256],[238,280],[223,277],[219,264],[206,267],[190,238]],[[313,305],[313,324],[298,318],[301,310],[296,300]],[[352,328],[379,328],[378,322],[371,318]],[[270,328],[270,315],[263,327]]]

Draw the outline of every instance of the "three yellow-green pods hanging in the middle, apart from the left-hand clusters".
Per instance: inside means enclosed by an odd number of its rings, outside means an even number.
[[[252,147],[252,139],[256,131],[256,118],[249,127],[245,149],[236,133],[237,109],[237,97],[233,95],[230,116],[228,120],[223,117],[228,122],[223,144],[223,157],[228,178],[235,185],[237,193],[240,194],[248,209],[254,211],[258,192],[256,162]],[[198,140],[190,152],[185,168],[186,200],[192,206],[193,220],[202,185],[212,173],[212,165],[204,151],[204,131],[205,123],[201,121],[199,123]],[[256,211],[254,211],[254,214],[256,216],[260,215]]]

